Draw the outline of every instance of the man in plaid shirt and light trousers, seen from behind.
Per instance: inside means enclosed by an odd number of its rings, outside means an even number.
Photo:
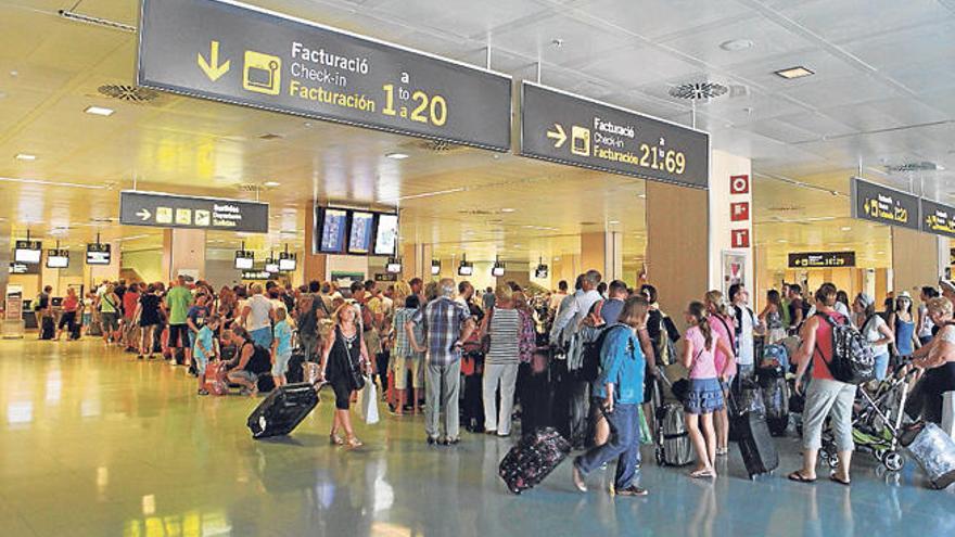
[[[458,436],[458,388],[461,381],[461,342],[474,331],[468,308],[454,301],[455,281],[450,278],[437,284],[438,297],[419,309],[405,323],[411,347],[425,354],[424,431],[428,444],[438,442],[438,418],[445,413],[445,437],[442,444],[460,442]],[[415,335],[415,327],[424,329],[426,348]]]

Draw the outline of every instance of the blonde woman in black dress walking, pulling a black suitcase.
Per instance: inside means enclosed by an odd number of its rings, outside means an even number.
[[[349,448],[361,447],[361,442],[352,429],[352,417],[348,414],[352,392],[355,385],[353,371],[362,374],[368,370],[368,348],[358,328],[358,310],[351,304],[343,304],[333,314],[335,328],[329,335],[321,354],[321,378],[331,384],[335,393],[335,414],[331,443],[336,446],[347,445]],[[344,430],[345,438],[339,436]]]

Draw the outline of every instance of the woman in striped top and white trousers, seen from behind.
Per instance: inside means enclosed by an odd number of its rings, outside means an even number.
[[[508,285],[498,285],[494,308],[484,316],[481,324],[481,338],[491,336],[491,345],[484,357],[484,431],[487,434],[508,436],[511,432],[520,333],[521,316],[514,309],[513,291]],[[498,384],[499,409],[495,404]]]

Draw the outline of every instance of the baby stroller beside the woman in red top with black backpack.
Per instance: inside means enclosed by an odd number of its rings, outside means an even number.
[[[860,386],[853,406],[852,439],[855,442],[855,449],[873,453],[890,472],[897,472],[905,465],[905,457],[899,452],[899,438],[904,431],[908,386],[915,375],[914,369],[905,372],[905,366],[904,362],[900,363],[874,389]],[[819,457],[830,468],[839,465],[831,431],[823,433]]]

